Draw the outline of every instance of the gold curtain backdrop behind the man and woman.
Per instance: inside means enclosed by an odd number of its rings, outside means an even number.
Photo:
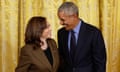
[[[80,18],[102,31],[107,72],[120,72],[120,0],[0,0],[0,72],[14,72],[30,17],[47,17],[57,41],[57,9],[65,1],[76,3]]]

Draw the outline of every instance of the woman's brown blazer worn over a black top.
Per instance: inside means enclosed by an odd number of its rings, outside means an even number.
[[[21,49],[18,66],[15,72],[57,72],[59,66],[59,55],[56,43],[52,39],[47,40],[50,47],[53,66],[48,61],[41,48],[34,49],[34,44],[25,45]]]

